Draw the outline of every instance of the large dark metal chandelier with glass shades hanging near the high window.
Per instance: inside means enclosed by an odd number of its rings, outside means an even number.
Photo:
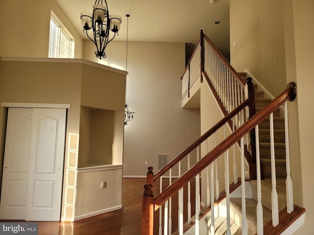
[[[107,2],[103,5],[103,0],[96,0],[93,5],[93,14],[89,12],[80,13],[82,20],[83,32],[86,32],[87,37],[95,44],[97,50],[95,51],[96,57],[102,59],[106,57],[105,48],[114,37],[119,35],[118,31],[121,24],[121,16],[110,15],[108,11]],[[93,36],[89,36],[88,32],[92,29]],[[109,33],[113,32],[113,36]],[[112,34],[112,33],[111,33]]]

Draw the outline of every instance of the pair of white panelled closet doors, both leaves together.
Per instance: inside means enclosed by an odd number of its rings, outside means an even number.
[[[11,108],[9,109],[9,113],[11,112],[10,110]],[[23,110],[22,112],[25,112],[24,110],[27,109],[17,110]],[[58,221],[60,219],[61,210],[66,110],[45,108],[30,110],[32,111],[30,139],[26,141],[29,143],[28,149],[24,148],[19,150],[19,152],[24,152],[25,150],[25,152],[28,153],[27,160],[26,156],[23,155],[19,155],[21,156],[20,159],[17,157],[18,160],[23,158],[23,161],[27,161],[28,163],[27,173],[24,174],[24,181],[22,182],[25,184],[23,185],[24,187],[21,188],[18,184],[19,182],[13,185],[14,187],[11,187],[12,184],[9,183],[9,187],[11,188],[8,190],[12,191],[12,193],[19,192],[20,196],[16,197],[19,200],[19,204],[22,204],[22,199],[24,199],[24,205],[20,206],[21,208],[23,207],[23,211],[14,212],[15,210],[12,210],[11,203],[3,205],[5,209],[3,209],[4,213],[2,213],[1,195],[0,218],[5,217],[5,219],[25,219],[31,221]],[[12,132],[12,130],[7,129],[7,133],[8,132]],[[26,130],[23,130],[22,133],[23,132],[29,133],[29,131],[27,132]],[[20,133],[15,132],[14,136],[20,136]],[[15,137],[13,137],[13,139],[15,139]],[[26,143],[24,143],[24,145],[26,145]],[[14,150],[20,147],[21,144],[12,146]],[[6,161],[7,158],[10,158],[10,156],[5,155],[4,161]],[[10,161],[11,160],[8,160],[8,162]],[[15,164],[19,165],[18,161],[14,163],[11,161],[10,167],[17,168]],[[3,175],[6,174],[5,167],[4,164]],[[26,170],[26,166],[22,168],[24,171]],[[7,172],[9,173],[10,171],[8,170]],[[26,175],[27,178],[25,178]],[[12,175],[7,177],[8,181],[11,180],[10,177],[12,177]],[[3,188],[4,184],[6,183],[2,183],[2,194],[7,194],[5,192],[6,190]],[[10,195],[7,195],[7,197],[10,201]],[[16,208],[16,205],[13,207]],[[12,211],[10,212],[12,214],[10,218],[7,216],[8,211]]]

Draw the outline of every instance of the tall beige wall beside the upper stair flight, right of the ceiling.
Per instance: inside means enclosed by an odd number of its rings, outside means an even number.
[[[246,68],[273,96],[285,89],[281,0],[230,1],[230,44],[230,61],[236,71]]]

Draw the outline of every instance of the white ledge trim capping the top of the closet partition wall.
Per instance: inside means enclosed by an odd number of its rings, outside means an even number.
[[[1,61],[11,61],[11,62],[49,62],[49,63],[78,63],[85,64],[93,67],[97,67],[103,70],[112,71],[120,73],[123,75],[129,74],[127,71],[118,70],[110,66],[102,65],[96,62],[92,62],[85,59],[79,58],[26,58],[26,57],[1,57]]]

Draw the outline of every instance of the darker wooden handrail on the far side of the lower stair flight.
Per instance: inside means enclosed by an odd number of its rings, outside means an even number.
[[[205,134],[203,134],[197,141],[192,143],[187,149],[185,149],[181,154],[179,154],[176,158],[174,158],[171,162],[169,162],[165,167],[160,169],[154,175],[154,182],[160,178],[164,173],[170,170],[174,165],[179,163],[187,154],[192,152],[198,145],[200,145],[203,141],[205,141],[209,136],[211,136],[215,131],[217,131],[220,127],[222,127],[225,123],[227,123],[231,118],[233,118],[237,113],[239,113],[242,109],[244,109],[248,105],[248,99],[244,100],[239,106],[237,106],[232,112],[230,112],[227,116],[222,118],[216,125],[210,128]]]

